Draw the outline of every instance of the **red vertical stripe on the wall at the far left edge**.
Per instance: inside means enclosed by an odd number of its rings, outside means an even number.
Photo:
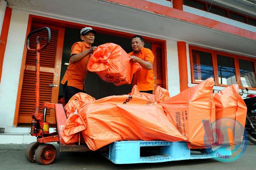
[[[11,16],[12,16],[12,9],[9,7],[6,7],[6,11],[4,14],[4,19],[3,19],[2,32],[1,32],[1,36],[0,36],[0,39],[1,39],[1,42],[0,42],[0,82],[1,82],[1,78],[2,78],[3,58],[4,58],[5,49],[6,49],[6,42],[7,42],[8,32],[9,32]]]

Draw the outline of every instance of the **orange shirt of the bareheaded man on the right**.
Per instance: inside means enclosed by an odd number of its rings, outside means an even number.
[[[139,52],[139,55],[135,54],[135,52],[130,52],[128,55],[134,55],[143,61],[148,61],[153,64],[154,55],[150,49],[142,48]],[[134,82],[135,81],[135,82]],[[133,78],[133,84],[136,84],[136,78]],[[137,71],[137,86],[140,91],[148,91],[154,89],[154,74],[153,68],[146,69],[142,66],[142,70]]]

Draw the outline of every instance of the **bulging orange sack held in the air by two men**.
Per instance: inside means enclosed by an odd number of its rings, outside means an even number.
[[[90,57],[87,69],[116,86],[131,84],[132,76],[141,69],[139,63],[130,61],[131,56],[119,45],[105,43],[96,48]]]

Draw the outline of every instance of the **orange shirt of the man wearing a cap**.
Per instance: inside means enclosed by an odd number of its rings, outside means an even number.
[[[84,50],[90,49],[91,46],[87,43],[83,42],[76,42],[71,47],[71,55],[79,54]],[[70,56],[71,56],[70,55]],[[71,63],[67,67],[67,71],[65,72],[64,77],[61,80],[61,84],[65,84],[67,81],[67,86],[73,86],[80,90],[84,89],[84,79],[87,75],[87,61],[90,55],[85,56],[79,62]]]

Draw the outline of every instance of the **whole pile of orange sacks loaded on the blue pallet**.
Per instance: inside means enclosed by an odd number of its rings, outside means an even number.
[[[90,150],[122,140],[186,141],[189,148],[230,143],[220,141],[216,130],[225,122],[214,122],[232,118],[244,127],[247,108],[238,85],[213,94],[213,84],[213,78],[209,78],[174,97],[160,86],[155,95],[140,92],[134,86],[128,95],[99,100],[78,93],[64,107],[68,119],[61,131],[61,142],[76,143],[80,133]],[[241,138],[233,138],[231,143],[239,143]]]

